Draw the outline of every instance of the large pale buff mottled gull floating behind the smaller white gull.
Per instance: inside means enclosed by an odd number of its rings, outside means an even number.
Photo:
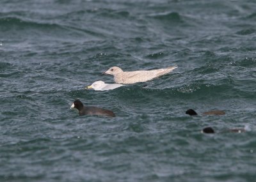
[[[148,80],[155,79],[166,73],[172,72],[178,66],[171,66],[168,68],[158,70],[138,70],[133,72],[124,72],[121,68],[114,66],[109,68],[108,71],[103,74],[113,75],[117,84],[134,84],[137,82],[147,82]]]

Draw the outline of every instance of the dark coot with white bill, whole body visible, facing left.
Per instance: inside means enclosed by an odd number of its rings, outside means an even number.
[[[80,100],[75,100],[71,105],[71,108],[77,109],[79,115],[97,115],[97,116],[109,116],[115,117],[115,114],[111,110],[101,109],[99,107],[86,107]]]

